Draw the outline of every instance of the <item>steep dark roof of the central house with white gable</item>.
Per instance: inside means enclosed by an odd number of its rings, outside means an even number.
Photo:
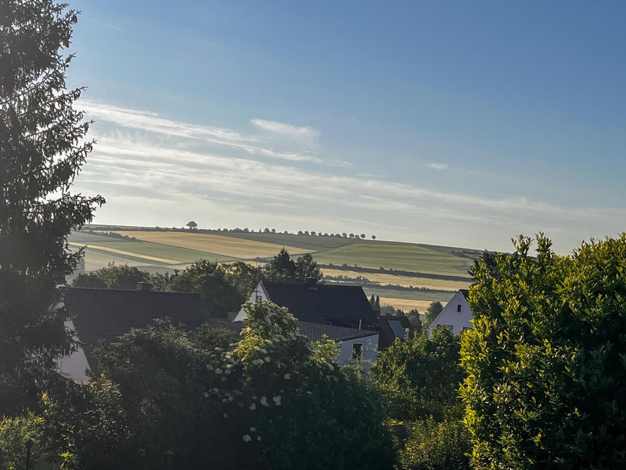
[[[379,323],[361,286],[262,281],[270,301],[298,320],[378,330]]]

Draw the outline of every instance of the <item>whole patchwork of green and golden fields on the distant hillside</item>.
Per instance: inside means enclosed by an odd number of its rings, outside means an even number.
[[[372,281],[363,287],[367,296],[379,295],[403,308],[419,306],[420,310],[429,301],[446,302],[454,291],[467,287],[471,283],[467,270],[473,264],[473,257],[481,254],[478,250],[448,246],[281,233],[161,231],[130,226],[112,229],[93,225],[86,228],[115,231],[130,237],[85,232],[71,234],[69,242],[72,249],[88,245],[85,252],[86,271],[111,262],[137,266],[152,273],[184,269],[200,259],[220,263],[257,263],[261,259],[263,263],[284,246],[293,258],[303,251],[311,251],[318,263],[333,264],[333,268],[324,269],[329,276],[334,276],[327,279],[328,282],[359,283],[357,277],[367,278]],[[359,271],[354,266],[373,269],[374,272]],[[381,270],[381,267],[384,269]],[[344,278],[338,279],[337,276]],[[403,288],[389,288],[387,285]]]

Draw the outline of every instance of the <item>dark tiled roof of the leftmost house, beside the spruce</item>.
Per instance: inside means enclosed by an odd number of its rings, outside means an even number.
[[[73,315],[78,339],[86,345],[107,342],[143,328],[154,318],[197,328],[208,318],[200,295],[195,293],[65,288],[65,302]]]

